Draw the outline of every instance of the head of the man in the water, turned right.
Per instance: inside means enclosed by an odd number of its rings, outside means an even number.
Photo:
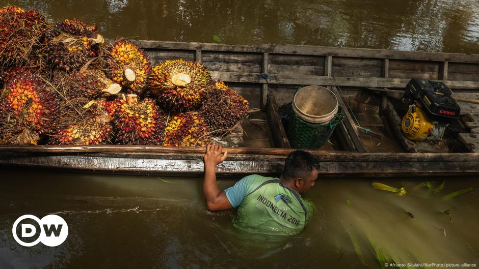
[[[319,169],[316,157],[305,151],[294,151],[284,162],[282,177],[289,183],[288,186],[304,193],[314,186]]]

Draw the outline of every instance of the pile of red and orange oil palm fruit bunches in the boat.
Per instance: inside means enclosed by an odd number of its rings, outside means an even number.
[[[0,144],[204,146],[241,126],[248,102],[197,62],[152,66],[97,26],[0,10]]]

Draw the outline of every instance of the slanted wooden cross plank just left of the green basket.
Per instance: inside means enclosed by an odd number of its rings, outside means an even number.
[[[271,135],[276,147],[291,148],[288,137],[284,131],[281,117],[278,114],[278,106],[273,95],[268,95],[268,103],[266,109],[268,124],[270,125]]]

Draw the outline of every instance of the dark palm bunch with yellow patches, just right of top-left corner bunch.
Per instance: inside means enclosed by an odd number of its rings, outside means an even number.
[[[95,56],[93,41],[88,37],[73,37],[66,34],[49,40],[37,51],[48,64],[67,72],[77,70]]]

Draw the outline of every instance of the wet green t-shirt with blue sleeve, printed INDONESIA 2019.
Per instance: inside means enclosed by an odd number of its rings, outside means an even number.
[[[247,232],[297,234],[311,219],[311,202],[279,178],[249,175],[225,192],[237,207],[233,225]]]

